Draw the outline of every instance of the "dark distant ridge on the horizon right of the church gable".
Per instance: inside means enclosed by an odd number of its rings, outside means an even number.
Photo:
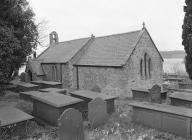
[[[184,58],[185,52],[184,50],[178,51],[160,51],[163,58]]]

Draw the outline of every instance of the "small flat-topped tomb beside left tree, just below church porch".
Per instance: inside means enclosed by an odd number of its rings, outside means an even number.
[[[40,86],[31,83],[19,82],[17,83],[17,88],[19,91],[32,91],[38,90]]]

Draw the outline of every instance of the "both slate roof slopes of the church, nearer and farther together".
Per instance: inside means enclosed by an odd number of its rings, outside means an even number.
[[[87,47],[86,52],[82,54],[74,65],[120,67],[126,64],[126,61],[131,56],[137,42],[145,31],[148,33],[147,29],[143,28],[122,34],[54,43],[38,56],[37,59],[43,60],[42,63],[67,63],[81,48],[87,46],[87,42],[90,39],[93,39]],[[160,53],[159,55],[162,58]]]

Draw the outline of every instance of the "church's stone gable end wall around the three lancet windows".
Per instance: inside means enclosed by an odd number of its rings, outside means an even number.
[[[145,53],[151,58],[151,76],[141,77],[140,73],[140,60],[144,60]],[[151,88],[154,84],[161,85],[163,83],[163,61],[152,43],[150,36],[145,32],[137,44],[137,47],[127,65],[124,67],[124,71],[127,73],[128,83],[126,90],[130,93],[130,89],[134,87]],[[147,65],[148,71],[148,65]],[[143,75],[144,72],[144,61],[143,61]]]

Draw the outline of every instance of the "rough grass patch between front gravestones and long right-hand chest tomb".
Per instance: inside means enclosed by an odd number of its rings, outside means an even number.
[[[132,122],[132,111],[127,102],[120,101],[117,111],[108,122],[96,129],[88,130],[89,140],[184,140],[173,134],[157,131]],[[88,140],[87,139],[87,140]]]

